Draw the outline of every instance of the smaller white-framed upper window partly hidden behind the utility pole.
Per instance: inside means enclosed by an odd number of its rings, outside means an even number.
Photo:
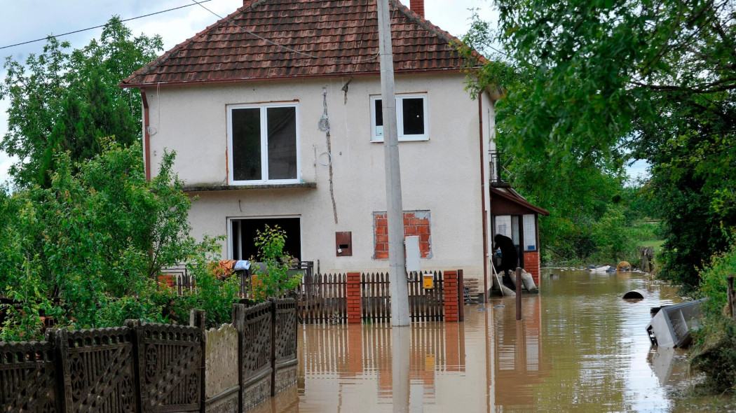
[[[383,142],[381,96],[370,97],[371,142]],[[426,93],[396,95],[396,127],[399,140],[429,140]]]

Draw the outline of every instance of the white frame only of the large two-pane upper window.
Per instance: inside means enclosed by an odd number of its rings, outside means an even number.
[[[269,162],[269,145],[268,145],[268,118],[267,109],[269,107],[293,107],[294,121],[296,127],[296,143],[297,146],[297,177],[294,179],[269,179],[268,178],[268,162]],[[233,165],[233,110],[236,109],[260,109],[261,110],[261,177],[263,179],[255,179],[250,181],[235,180],[235,166]],[[302,168],[299,157],[300,148],[299,138],[299,104],[298,102],[274,102],[268,104],[229,104],[227,105],[227,182],[231,185],[252,185],[252,184],[298,184],[301,182]]]

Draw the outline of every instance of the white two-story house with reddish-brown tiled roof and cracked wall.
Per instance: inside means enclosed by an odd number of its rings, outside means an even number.
[[[405,232],[422,269],[480,280],[494,104],[413,6],[391,1]],[[223,259],[271,224],[321,273],[388,269],[377,26],[375,0],[246,0],[121,83],[143,96],[146,173],[176,151],[194,235],[225,234]]]

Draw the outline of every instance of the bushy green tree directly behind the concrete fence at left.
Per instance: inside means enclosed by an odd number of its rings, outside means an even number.
[[[48,188],[36,184],[0,195],[0,285],[21,305],[4,340],[38,337],[40,315],[76,328],[120,325],[126,317],[165,320],[173,293],[158,292],[162,267],[187,264],[197,294],[183,304],[208,311],[210,325],[227,317],[235,281],[216,279],[208,262],[216,240],[189,236],[191,201],[165,154],[146,181],[138,148],[102,142],[102,152],[74,165],[54,159]]]

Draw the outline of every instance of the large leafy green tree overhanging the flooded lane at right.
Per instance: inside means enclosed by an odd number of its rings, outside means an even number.
[[[503,147],[602,171],[647,159],[667,238],[661,274],[696,286],[698,268],[726,248],[721,227],[736,225],[733,1],[496,4],[498,36],[470,38],[498,40],[503,54],[474,71],[471,87],[508,90]]]

